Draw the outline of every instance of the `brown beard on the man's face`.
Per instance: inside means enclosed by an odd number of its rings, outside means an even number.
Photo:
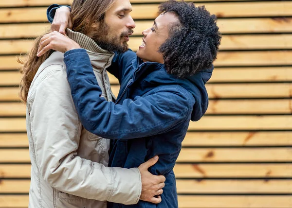
[[[110,52],[126,52],[128,51],[127,41],[122,42],[122,38],[127,36],[129,33],[133,33],[131,29],[123,32],[121,35],[113,35],[110,33],[110,26],[101,22],[100,27],[94,31],[92,39],[104,50]]]

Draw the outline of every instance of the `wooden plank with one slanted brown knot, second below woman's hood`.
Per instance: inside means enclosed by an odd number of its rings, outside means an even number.
[[[187,132],[183,146],[291,146],[292,132]]]

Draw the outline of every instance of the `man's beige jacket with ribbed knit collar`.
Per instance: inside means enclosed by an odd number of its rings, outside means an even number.
[[[102,96],[112,100],[105,69],[113,54],[85,35],[67,32],[88,50],[99,86],[104,86]],[[32,162],[30,208],[106,208],[106,201],[138,203],[142,188],[139,170],[107,167],[110,140],[82,127],[63,53],[54,52],[38,69],[28,93],[26,123]]]

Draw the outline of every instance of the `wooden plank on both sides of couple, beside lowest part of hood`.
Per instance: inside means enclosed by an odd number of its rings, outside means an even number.
[[[226,107],[228,106],[228,107]],[[210,100],[208,114],[291,114],[290,99],[268,100]],[[22,103],[0,103],[0,116],[25,116]]]

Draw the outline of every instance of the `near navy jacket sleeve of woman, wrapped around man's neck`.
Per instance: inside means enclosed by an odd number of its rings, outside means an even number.
[[[146,97],[114,104],[101,98],[91,62],[84,49],[64,54],[67,76],[79,118],[95,135],[108,139],[134,139],[161,134],[183,121],[193,104],[180,87],[165,87]],[[173,102],[176,101],[176,102]]]

